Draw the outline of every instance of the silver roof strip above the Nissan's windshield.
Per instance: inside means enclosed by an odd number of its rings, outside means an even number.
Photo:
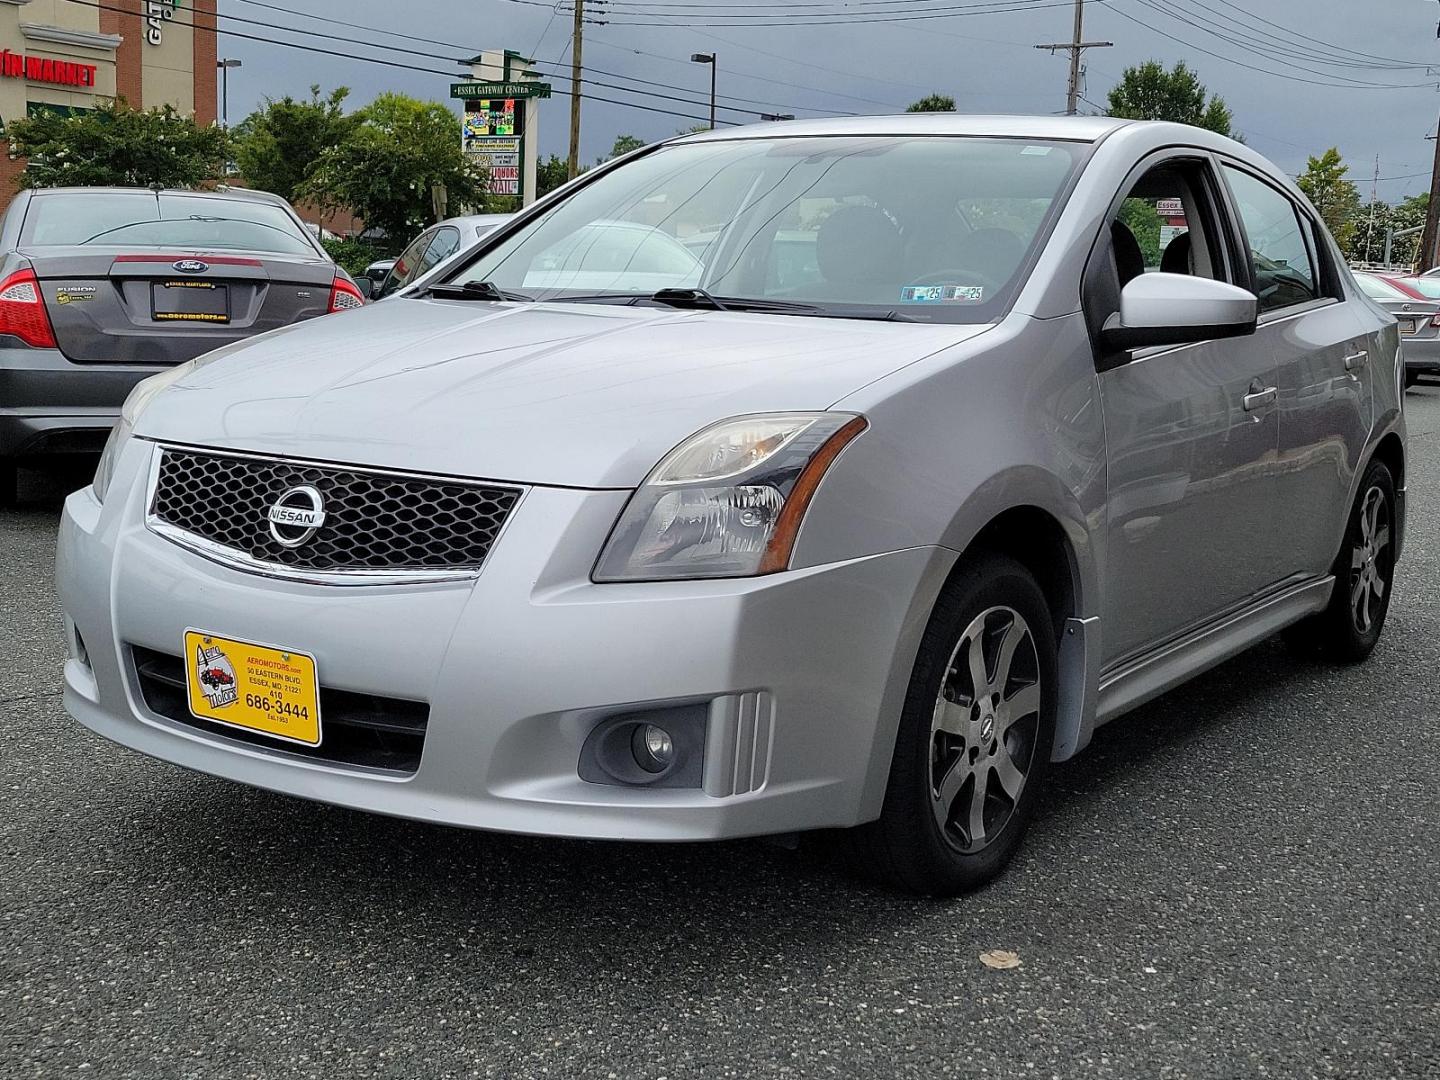
[[[975,115],[968,112],[901,112],[891,117],[834,117],[827,120],[786,120],[716,128],[684,135],[685,143],[710,143],[732,138],[782,138],[811,135],[981,135],[1017,138],[1064,138],[1081,143],[1096,140],[1117,128],[1145,121],[1116,117],[1024,117]]]

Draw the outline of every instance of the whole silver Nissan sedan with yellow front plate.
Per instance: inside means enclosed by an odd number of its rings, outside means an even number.
[[[950,894],[1097,726],[1279,631],[1369,654],[1398,351],[1205,131],[688,135],[137,387],[65,508],[65,706],[432,822],[850,829]]]

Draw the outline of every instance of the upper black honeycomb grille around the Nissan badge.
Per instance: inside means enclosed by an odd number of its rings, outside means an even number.
[[[320,492],[325,518],[304,543],[287,546],[272,536],[268,514],[297,487]],[[467,570],[485,560],[518,498],[520,488],[497,484],[166,448],[150,513],[279,567]]]

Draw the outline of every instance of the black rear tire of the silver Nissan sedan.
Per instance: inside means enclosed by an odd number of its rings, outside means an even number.
[[[1372,507],[1374,503],[1378,507]],[[1378,521],[1367,527],[1372,508]],[[1382,541],[1369,539],[1371,531],[1381,530]],[[1290,626],[1283,636],[1302,655],[1359,664],[1380,641],[1395,585],[1395,481],[1384,462],[1372,461],[1365,469],[1332,573],[1335,592],[1329,606]],[[1361,577],[1367,579],[1364,592],[1359,589]],[[1380,595],[1375,595],[1375,582],[1380,583]],[[1365,603],[1364,613],[1361,602]]]

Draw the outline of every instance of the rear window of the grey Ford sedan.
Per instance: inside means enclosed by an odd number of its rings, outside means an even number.
[[[20,242],[315,255],[284,207],[151,192],[37,194],[24,215]]]

